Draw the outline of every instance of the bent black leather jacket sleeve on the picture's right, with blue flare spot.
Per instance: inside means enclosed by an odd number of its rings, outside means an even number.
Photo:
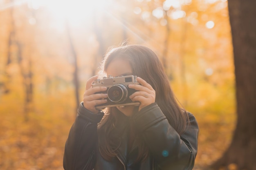
[[[179,135],[154,103],[133,116],[133,123],[161,170],[192,170],[198,148],[198,124],[189,113],[186,131]]]

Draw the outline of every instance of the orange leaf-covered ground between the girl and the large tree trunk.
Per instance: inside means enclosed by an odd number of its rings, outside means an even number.
[[[193,170],[208,170],[229,147],[236,125],[234,113],[205,113],[204,116],[194,114],[200,128],[198,137],[198,154]]]

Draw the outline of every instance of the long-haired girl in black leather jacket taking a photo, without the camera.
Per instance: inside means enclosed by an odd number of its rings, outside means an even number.
[[[111,49],[102,75],[137,75],[139,106],[110,107],[104,86],[88,79],[83,102],[65,144],[65,170],[191,170],[198,146],[198,124],[177,104],[157,55],[141,45]]]

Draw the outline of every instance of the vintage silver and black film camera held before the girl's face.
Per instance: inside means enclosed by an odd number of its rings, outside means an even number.
[[[136,90],[129,88],[129,84],[139,84],[136,80],[137,76],[135,75],[128,75],[128,76],[119,76],[119,77],[112,77],[108,75],[108,77],[103,77],[102,79],[96,79],[92,82],[92,87],[97,86],[106,86],[107,91],[98,92],[98,93],[107,93],[108,100],[107,103],[96,105],[95,108],[103,109],[106,107],[115,107],[115,106],[128,106],[128,105],[135,105],[139,106],[140,102],[132,102],[129,96],[132,93],[135,93]]]

